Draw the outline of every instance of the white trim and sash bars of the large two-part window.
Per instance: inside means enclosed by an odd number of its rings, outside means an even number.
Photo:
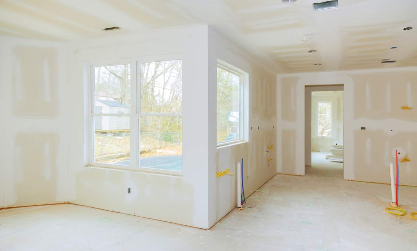
[[[140,143],[140,124],[139,118],[141,116],[181,116],[182,113],[141,113],[140,103],[140,89],[141,89],[141,76],[140,67],[141,63],[157,62],[157,61],[169,61],[169,60],[182,60],[180,54],[170,55],[158,55],[158,56],[147,56],[140,58],[129,58],[126,60],[102,60],[102,61],[90,61],[86,62],[85,65],[88,69],[87,74],[87,85],[88,85],[88,118],[87,118],[87,152],[88,158],[86,158],[85,167],[98,167],[98,168],[109,168],[114,170],[127,170],[137,171],[141,173],[156,173],[169,176],[182,176],[183,171],[174,170],[162,170],[148,167],[139,166],[139,143]],[[93,75],[94,67],[109,66],[109,65],[131,65],[131,110],[130,113],[94,113],[95,110],[95,75]],[[130,117],[130,166],[105,164],[94,162],[94,116],[129,116]],[[181,123],[182,124],[182,123]]]

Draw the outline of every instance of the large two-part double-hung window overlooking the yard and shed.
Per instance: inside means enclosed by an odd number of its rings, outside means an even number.
[[[90,166],[181,174],[181,60],[91,65],[90,81]]]

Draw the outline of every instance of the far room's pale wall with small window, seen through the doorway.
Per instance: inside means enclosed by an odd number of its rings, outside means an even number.
[[[317,105],[319,102],[332,103],[332,136],[318,136]],[[343,145],[343,92],[325,95],[317,93],[311,97],[311,151],[329,151],[333,144]]]

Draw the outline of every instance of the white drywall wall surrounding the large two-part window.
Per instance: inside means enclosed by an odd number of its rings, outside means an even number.
[[[68,99],[79,100],[69,110],[71,201],[208,228],[207,33],[207,26],[199,26],[70,43]],[[83,64],[171,54],[182,57],[183,176],[86,167]]]

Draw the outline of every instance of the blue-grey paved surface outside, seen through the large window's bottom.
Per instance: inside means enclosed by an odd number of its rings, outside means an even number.
[[[182,171],[182,155],[146,157],[141,158],[140,162],[141,167]],[[114,164],[129,166],[130,161],[121,161]]]

